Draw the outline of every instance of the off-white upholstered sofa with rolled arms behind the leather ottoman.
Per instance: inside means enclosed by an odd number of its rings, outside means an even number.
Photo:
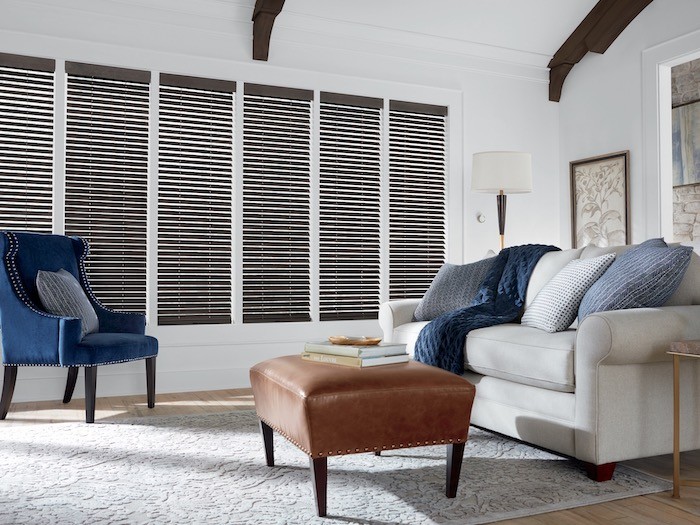
[[[527,289],[526,308],[570,260],[628,247],[545,254]],[[428,322],[412,322],[418,299],[381,305],[387,342],[409,353]],[[587,464],[593,479],[615,463],[673,450],[672,341],[700,339],[700,258],[660,308],[600,312],[578,328],[547,333],[510,323],[470,332],[464,374],[476,385],[472,424]],[[681,449],[700,449],[700,359],[681,369]]]

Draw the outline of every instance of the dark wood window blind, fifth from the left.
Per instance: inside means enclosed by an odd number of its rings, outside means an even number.
[[[382,101],[321,93],[320,319],[376,319]]]

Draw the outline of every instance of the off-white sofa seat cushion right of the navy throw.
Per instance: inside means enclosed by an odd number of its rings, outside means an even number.
[[[550,334],[520,324],[472,330],[465,366],[474,372],[559,392],[574,391],[576,330]]]

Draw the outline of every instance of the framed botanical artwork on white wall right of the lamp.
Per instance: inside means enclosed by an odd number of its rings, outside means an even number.
[[[629,151],[570,163],[574,248],[629,244],[629,164]]]

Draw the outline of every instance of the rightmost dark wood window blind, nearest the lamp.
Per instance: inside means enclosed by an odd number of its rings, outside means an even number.
[[[389,297],[422,297],[445,261],[447,108],[389,108]]]

